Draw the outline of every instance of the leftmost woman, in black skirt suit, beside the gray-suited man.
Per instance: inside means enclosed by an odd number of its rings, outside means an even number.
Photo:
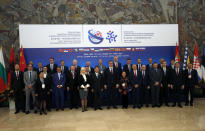
[[[47,79],[44,79],[44,74],[41,72],[39,77],[36,81],[36,96],[38,96],[39,103],[40,103],[40,115],[43,113],[46,115],[46,99],[47,94],[49,93],[49,83]]]

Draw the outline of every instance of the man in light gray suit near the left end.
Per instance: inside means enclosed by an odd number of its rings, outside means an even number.
[[[30,96],[33,98],[34,113],[37,113],[35,106],[35,83],[37,80],[36,71],[32,70],[32,64],[28,65],[28,71],[24,72],[24,84],[26,89],[26,114],[30,113]]]

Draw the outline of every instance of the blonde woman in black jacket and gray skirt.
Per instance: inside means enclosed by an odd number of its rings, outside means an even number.
[[[79,76],[79,93],[82,105],[82,112],[87,111],[87,96],[88,88],[90,87],[90,80],[88,75],[86,75],[85,68],[82,67]]]

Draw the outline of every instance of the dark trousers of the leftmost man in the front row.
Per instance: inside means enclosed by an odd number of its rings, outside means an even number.
[[[14,93],[15,107],[16,111],[25,111],[25,102],[24,102],[24,94],[22,92]]]

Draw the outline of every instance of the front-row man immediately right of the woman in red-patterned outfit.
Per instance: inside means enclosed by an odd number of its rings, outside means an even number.
[[[130,72],[130,82],[132,84],[133,108],[141,108],[140,106],[140,86],[142,74],[137,70],[136,64],[132,65],[133,70]]]

